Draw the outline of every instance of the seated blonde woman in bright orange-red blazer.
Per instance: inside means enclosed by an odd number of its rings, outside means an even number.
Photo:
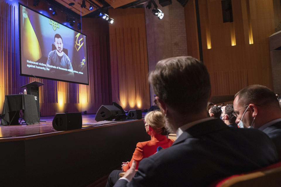
[[[164,116],[161,111],[153,110],[148,112],[144,117],[144,122],[145,131],[151,136],[151,140],[137,143],[136,150],[133,153],[131,161],[122,162],[122,170],[114,170],[111,174],[109,174],[106,187],[113,186],[119,179],[119,173],[126,172],[132,166],[134,160],[136,162],[135,167],[138,169],[140,160],[156,153],[157,147],[160,146],[165,149],[174,143],[174,140],[166,137],[169,133],[164,127]]]

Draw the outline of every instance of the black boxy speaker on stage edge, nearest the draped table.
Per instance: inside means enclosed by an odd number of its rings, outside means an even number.
[[[53,127],[57,131],[68,131],[82,128],[80,112],[57,113],[53,119]]]

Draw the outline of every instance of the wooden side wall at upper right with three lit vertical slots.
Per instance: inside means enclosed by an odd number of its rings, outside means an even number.
[[[275,32],[273,1],[232,1],[232,23],[223,23],[220,0],[198,2],[203,59],[210,73],[212,95],[235,94],[243,86],[251,84],[262,84],[272,89],[268,37]],[[193,1],[187,3],[186,12],[194,11],[192,4]],[[196,25],[186,20],[188,27]],[[207,47],[207,27],[210,27],[211,49]],[[232,46],[233,37],[236,45]],[[251,37],[253,44],[249,42]],[[191,48],[196,47],[192,45]]]

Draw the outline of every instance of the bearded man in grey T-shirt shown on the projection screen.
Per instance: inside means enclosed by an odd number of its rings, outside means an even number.
[[[55,68],[59,70],[60,74],[68,74],[73,76],[73,68],[68,56],[62,51],[64,44],[62,43],[62,37],[59,34],[54,36],[56,50],[51,51],[48,55],[47,67]],[[55,66],[55,67],[54,67]],[[58,71],[51,71],[58,72]],[[65,72],[65,73],[63,73]]]

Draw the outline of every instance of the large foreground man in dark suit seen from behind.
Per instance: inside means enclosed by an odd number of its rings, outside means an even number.
[[[149,82],[165,115],[165,127],[177,134],[177,140],[141,160],[138,171],[132,166],[114,186],[208,186],[277,162],[275,146],[263,132],[228,128],[219,118],[207,118],[210,78],[197,59],[161,60]]]

